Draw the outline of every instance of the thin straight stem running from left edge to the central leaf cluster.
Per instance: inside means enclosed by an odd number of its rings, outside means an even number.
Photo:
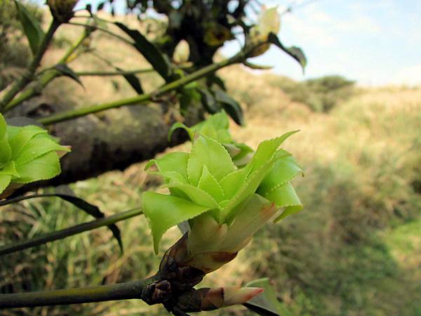
[[[22,198],[19,200],[22,200]],[[39,246],[41,244],[46,244],[47,242],[53,242],[58,239],[63,239],[66,237],[77,235],[77,234],[80,234],[81,232],[86,232],[88,230],[94,230],[96,228],[100,228],[103,226],[112,225],[121,220],[126,220],[128,218],[138,216],[142,213],[143,213],[142,209],[131,209],[129,211],[117,213],[112,216],[107,216],[104,218],[99,218],[97,220],[92,220],[91,222],[88,222],[88,223],[83,223],[83,224],[75,225],[69,228],[65,228],[64,230],[57,230],[55,232],[50,232],[48,234],[35,237],[33,239],[25,240],[23,242],[16,242],[11,245],[2,246],[0,247],[0,256],[4,256],[6,254],[11,254],[16,251],[32,248],[34,246]]]

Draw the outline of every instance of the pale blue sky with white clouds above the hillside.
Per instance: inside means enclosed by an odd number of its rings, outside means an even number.
[[[303,75],[298,64],[272,47],[254,62],[274,66],[273,72],[298,80],[342,74],[363,85],[421,84],[421,0],[260,2],[279,6],[279,12],[296,6],[282,16],[279,37],[300,46],[308,59]],[[234,41],[222,53],[237,49]]]

